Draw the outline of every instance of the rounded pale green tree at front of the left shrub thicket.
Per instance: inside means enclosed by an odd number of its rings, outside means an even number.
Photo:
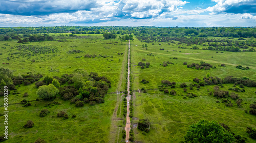
[[[54,87],[53,84],[42,85],[41,87],[38,88],[36,92],[36,94],[44,100],[53,99],[56,97],[58,93],[59,93],[59,90],[56,87]]]

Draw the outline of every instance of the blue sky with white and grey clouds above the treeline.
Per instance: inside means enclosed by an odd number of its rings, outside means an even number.
[[[0,27],[256,26],[256,0],[1,0]]]

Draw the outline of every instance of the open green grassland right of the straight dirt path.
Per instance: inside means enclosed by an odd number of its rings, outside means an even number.
[[[188,89],[188,92],[195,93],[198,97],[186,99],[183,99],[183,97],[186,97],[186,93],[182,88],[172,89],[176,91],[176,96],[164,94],[158,90],[158,85],[161,85],[162,80],[175,81],[178,85],[183,82],[190,84],[195,83],[193,82],[194,78],[202,79],[206,77],[207,73],[210,73],[210,76],[220,78],[233,75],[234,77],[248,77],[256,80],[254,52],[224,51],[223,53],[216,53],[216,51],[210,50],[189,49],[190,46],[186,46],[187,49],[180,49],[176,44],[173,46],[160,42],[161,45],[146,43],[148,47],[145,49],[142,48],[142,44],[145,43],[136,39],[131,44],[133,90],[147,89],[147,93],[136,92],[134,98],[133,123],[136,141],[182,141],[189,125],[197,123],[200,119],[216,120],[224,123],[230,127],[231,132],[247,137],[248,142],[255,141],[249,138],[245,132],[246,127],[256,127],[255,116],[245,113],[245,110],[250,109],[249,104],[255,101],[255,88],[246,87],[245,93],[238,93],[243,99],[241,108],[237,107],[234,100],[230,100],[233,103],[232,107],[226,107],[223,103],[216,103],[217,100],[221,101],[221,99],[208,94],[213,91],[214,85],[201,87],[199,91],[196,88],[194,90]],[[164,48],[164,50],[160,50],[160,48]],[[173,58],[178,58],[178,60]],[[146,61],[142,61],[142,59],[146,59]],[[217,68],[196,70],[183,65],[183,62],[200,64],[201,60]],[[163,67],[160,64],[163,64],[164,61],[174,64]],[[141,69],[140,66],[137,66],[138,62],[150,62],[150,67]],[[225,64],[226,67],[219,67],[218,65],[221,64]],[[237,69],[237,65],[249,66],[250,70]],[[141,83],[142,79],[149,81],[149,83]],[[221,90],[228,90],[232,88],[232,85],[224,84],[224,88],[221,88]],[[152,123],[151,131],[146,135],[142,135],[142,132],[136,128],[139,119],[142,118],[150,119]]]

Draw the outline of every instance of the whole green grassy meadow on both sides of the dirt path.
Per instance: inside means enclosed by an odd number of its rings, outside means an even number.
[[[52,101],[40,100],[36,95],[35,84],[16,85],[19,94],[9,94],[9,139],[5,142],[34,142],[37,138],[45,139],[47,142],[124,142],[122,130],[125,127],[126,119],[123,116],[123,93],[127,73],[127,43],[120,41],[117,34],[116,39],[105,40],[102,34],[75,34],[50,33],[54,41],[29,42],[18,44],[14,41],[1,41],[0,61],[9,65],[0,65],[9,68],[14,75],[42,74],[43,76],[61,76],[72,74],[74,69],[81,68],[90,72],[97,72],[111,81],[112,87],[104,97],[104,103],[75,107],[70,101],[61,99],[57,95]],[[67,36],[66,36],[67,35]],[[201,119],[216,120],[228,125],[231,132],[247,138],[247,142],[255,142],[245,132],[246,127],[256,127],[255,115],[246,113],[249,105],[255,102],[256,88],[245,87],[245,92],[229,91],[233,84],[223,84],[220,90],[229,93],[239,94],[243,99],[242,106],[238,107],[235,100],[230,97],[233,104],[227,107],[222,99],[217,99],[210,92],[214,92],[215,85],[206,85],[199,90],[194,87],[187,92],[179,85],[185,82],[187,85],[196,82],[194,78],[227,76],[246,77],[256,81],[256,58],[255,52],[230,52],[217,50],[203,50],[208,42],[200,45],[178,44],[180,42],[149,42],[145,43],[136,38],[131,40],[131,76],[133,90],[133,118],[131,127],[134,131],[135,142],[180,142],[184,141],[189,125],[197,123]],[[227,39],[225,37],[208,37],[207,39]],[[244,38],[251,40],[250,38]],[[239,38],[232,38],[233,41],[241,41]],[[255,39],[252,39],[255,41]],[[217,42],[218,43],[218,42]],[[147,44],[143,48],[142,44]],[[218,43],[220,44],[220,43]],[[227,44],[227,42],[226,42]],[[178,46],[187,48],[178,48]],[[199,49],[190,49],[197,46]],[[253,46],[248,46],[253,48]],[[164,49],[164,50],[160,50]],[[86,57],[84,57],[86,55]],[[91,58],[90,58],[91,57]],[[9,60],[8,60],[9,59]],[[142,60],[142,59],[145,59]],[[197,70],[187,68],[187,65],[200,62],[209,63],[216,68],[210,70]],[[139,62],[150,63],[148,68],[138,66]],[[169,62],[164,67],[164,62]],[[183,65],[187,62],[187,65]],[[220,66],[225,64],[225,67]],[[237,69],[236,66],[249,67],[249,70]],[[42,80],[43,78],[40,78]],[[142,79],[148,83],[140,82]],[[176,95],[164,94],[159,91],[162,80],[176,82]],[[68,83],[61,85],[61,87]],[[145,89],[146,92],[143,93]],[[24,93],[28,97],[23,97]],[[194,93],[195,98],[188,98],[187,93]],[[20,103],[23,99],[29,100],[32,106],[23,107]],[[38,100],[39,99],[39,100]],[[216,101],[220,101],[217,103]],[[54,104],[59,102],[60,104]],[[0,112],[4,111],[3,97],[0,98]],[[46,104],[51,104],[46,106]],[[41,109],[48,109],[49,115],[39,117]],[[66,111],[69,119],[57,117],[57,112]],[[72,115],[76,115],[72,118]],[[146,135],[137,129],[139,119],[149,119],[151,122],[150,132]],[[0,123],[5,118],[0,116]],[[33,128],[23,128],[28,120],[34,122]],[[1,124],[0,127],[3,127]]]

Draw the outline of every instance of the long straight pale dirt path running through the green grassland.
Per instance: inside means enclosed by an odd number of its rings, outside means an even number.
[[[126,138],[125,138],[125,142],[130,142],[129,141],[129,135],[130,135],[130,129],[131,129],[131,122],[130,122],[130,117],[129,117],[129,113],[130,113],[130,99],[131,99],[131,95],[130,95],[130,40],[129,40],[129,45],[128,45],[128,76],[127,76],[127,92],[128,92],[128,96],[126,97],[127,99],[127,114],[126,114],[126,125],[124,130],[126,131]]]

